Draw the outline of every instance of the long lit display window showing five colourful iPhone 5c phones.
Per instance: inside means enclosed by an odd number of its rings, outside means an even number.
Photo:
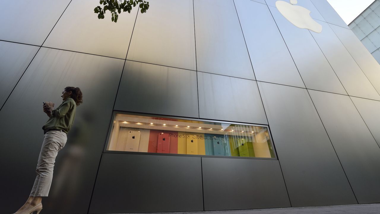
[[[115,113],[108,151],[275,158],[268,126]]]

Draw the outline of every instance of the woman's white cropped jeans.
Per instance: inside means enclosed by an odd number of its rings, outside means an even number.
[[[55,157],[65,147],[67,135],[61,131],[48,131],[44,134],[40,156],[37,162],[37,176],[29,196],[48,196],[53,179]]]

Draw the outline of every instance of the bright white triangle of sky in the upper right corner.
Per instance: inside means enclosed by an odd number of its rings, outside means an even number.
[[[327,0],[340,17],[350,24],[375,0]]]

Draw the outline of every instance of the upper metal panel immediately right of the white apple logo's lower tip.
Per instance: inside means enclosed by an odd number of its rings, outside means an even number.
[[[318,23],[323,26],[323,30],[320,34],[312,32],[312,35],[342,82],[348,95],[380,100],[380,96],[375,88],[330,26],[326,22],[318,21]]]

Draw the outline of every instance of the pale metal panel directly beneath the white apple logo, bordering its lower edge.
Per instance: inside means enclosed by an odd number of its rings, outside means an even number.
[[[276,8],[269,8],[306,87],[347,94],[309,30],[294,26]]]

